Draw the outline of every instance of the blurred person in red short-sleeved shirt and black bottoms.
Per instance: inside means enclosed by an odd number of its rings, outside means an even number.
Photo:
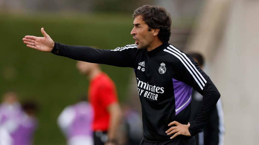
[[[76,67],[90,79],[88,99],[94,110],[94,144],[116,144],[115,135],[121,119],[121,109],[114,82],[96,63],[77,61]]]

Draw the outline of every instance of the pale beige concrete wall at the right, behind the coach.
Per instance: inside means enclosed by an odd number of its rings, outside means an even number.
[[[258,144],[259,1],[235,0],[228,4],[224,10],[229,11],[221,14],[227,19],[218,21],[218,25],[224,22],[224,27],[206,26],[204,23],[209,24],[210,17],[207,16],[207,21],[201,17],[204,21],[200,21],[196,30],[206,31],[196,31],[189,41],[188,51],[202,51],[206,56],[208,74],[221,93],[225,144]],[[207,5],[210,6],[213,8]],[[205,10],[220,13],[212,11],[217,9]]]

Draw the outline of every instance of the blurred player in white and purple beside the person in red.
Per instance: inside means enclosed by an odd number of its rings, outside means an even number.
[[[68,145],[93,145],[93,109],[86,100],[83,97],[78,103],[66,107],[57,119]]]

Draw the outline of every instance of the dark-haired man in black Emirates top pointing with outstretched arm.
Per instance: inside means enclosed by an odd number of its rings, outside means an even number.
[[[134,11],[133,45],[114,50],[57,43],[44,37],[25,36],[27,47],[80,61],[131,67],[135,71],[142,105],[141,144],[195,144],[220,94],[198,64],[168,44],[171,19],[159,6],[144,5]],[[197,118],[189,123],[192,87],[204,98]]]

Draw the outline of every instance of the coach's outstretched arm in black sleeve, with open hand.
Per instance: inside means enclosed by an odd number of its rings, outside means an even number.
[[[71,46],[54,42],[43,28],[41,28],[41,33],[44,37],[25,36],[23,41],[27,44],[26,46],[74,60],[118,67],[133,67],[135,56],[138,53],[135,44],[117,47],[114,50],[94,49],[87,46]]]

